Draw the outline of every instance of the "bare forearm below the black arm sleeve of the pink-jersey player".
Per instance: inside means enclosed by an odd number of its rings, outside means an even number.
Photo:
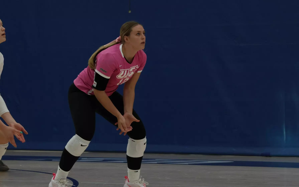
[[[114,106],[110,98],[107,96],[105,91],[94,90],[94,95],[97,100],[103,105],[103,107],[108,110],[115,117],[121,116],[118,109]]]

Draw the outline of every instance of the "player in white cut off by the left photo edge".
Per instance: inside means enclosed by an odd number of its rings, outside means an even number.
[[[3,23],[0,19],[0,43],[5,41],[6,41],[5,28],[3,27]],[[4,57],[0,53],[0,76],[3,70],[3,65],[4,65]],[[5,165],[2,162],[1,158],[6,152],[6,149],[8,147],[8,142],[10,142],[14,147],[16,147],[16,142],[14,140],[13,135],[15,135],[17,139],[19,139],[22,143],[24,143],[25,138],[23,136],[22,131],[26,134],[28,133],[21,124],[17,123],[13,119],[1,95],[0,95],[0,116],[7,123],[7,125],[9,125],[9,127],[6,126],[0,120],[0,171],[4,172],[9,170],[9,168],[7,165]]]

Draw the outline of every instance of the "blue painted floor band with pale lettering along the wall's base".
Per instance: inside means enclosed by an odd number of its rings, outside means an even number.
[[[170,155],[171,157],[171,155]],[[4,155],[2,160],[14,161],[59,161],[59,156],[19,156]],[[126,158],[80,157],[77,162],[126,163]],[[271,161],[221,161],[221,160],[186,160],[186,159],[151,159],[144,158],[143,164],[177,164],[177,165],[208,165],[208,166],[249,166],[249,167],[280,167],[299,168],[298,162]]]

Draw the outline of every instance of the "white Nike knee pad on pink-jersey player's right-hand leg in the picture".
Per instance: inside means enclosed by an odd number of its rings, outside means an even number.
[[[127,146],[127,155],[133,158],[142,157],[146,147],[147,147],[146,137],[141,140],[134,140],[130,138]]]

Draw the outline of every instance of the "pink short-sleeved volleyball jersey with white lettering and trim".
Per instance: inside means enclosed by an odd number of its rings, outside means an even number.
[[[101,82],[96,82],[96,73],[103,78],[109,79],[105,92],[110,96],[118,88],[118,85],[128,81],[134,73],[140,73],[147,60],[144,51],[138,51],[130,64],[123,56],[123,44],[113,45],[97,55],[96,69],[86,67],[74,80],[77,88],[88,95],[94,95],[93,87]]]

